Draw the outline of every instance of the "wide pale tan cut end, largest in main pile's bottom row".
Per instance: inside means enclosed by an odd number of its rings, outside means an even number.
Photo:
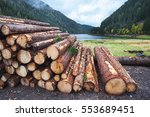
[[[57,88],[63,93],[70,93],[72,91],[72,85],[65,81],[58,82]]]

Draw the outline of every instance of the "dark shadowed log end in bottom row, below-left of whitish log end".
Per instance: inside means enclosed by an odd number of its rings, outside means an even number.
[[[18,75],[11,76],[7,81],[7,85],[9,87],[15,87],[19,84],[20,84],[20,76],[18,76]]]

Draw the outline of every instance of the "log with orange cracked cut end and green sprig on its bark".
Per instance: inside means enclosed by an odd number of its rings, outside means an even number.
[[[68,66],[72,56],[77,53],[77,44],[78,42],[75,42],[74,45],[70,47],[62,56],[51,63],[50,68],[55,74],[63,73],[65,68]]]

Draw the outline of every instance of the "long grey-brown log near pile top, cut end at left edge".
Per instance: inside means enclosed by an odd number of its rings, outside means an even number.
[[[50,30],[58,30],[57,27],[47,27],[29,24],[4,24],[1,26],[1,31],[3,35],[11,35],[18,33],[31,33],[31,32],[42,32]]]

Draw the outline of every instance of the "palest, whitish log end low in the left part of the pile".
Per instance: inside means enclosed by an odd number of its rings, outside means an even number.
[[[16,73],[18,76],[21,77],[26,77],[28,74],[28,70],[24,65],[20,65],[17,69],[16,69]]]

